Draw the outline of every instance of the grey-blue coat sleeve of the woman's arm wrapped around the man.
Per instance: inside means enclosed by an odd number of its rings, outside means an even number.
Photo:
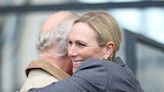
[[[28,92],[102,92],[107,84],[107,71],[102,61],[87,59],[72,77]]]

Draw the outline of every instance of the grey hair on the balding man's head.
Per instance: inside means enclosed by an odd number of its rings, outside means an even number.
[[[52,31],[40,32],[37,43],[37,50],[39,56],[42,55],[42,51],[49,48],[53,44],[57,46],[51,56],[61,57],[67,53],[68,45],[68,34],[71,31],[72,25],[74,23],[73,17],[66,18],[57,27],[54,27]]]

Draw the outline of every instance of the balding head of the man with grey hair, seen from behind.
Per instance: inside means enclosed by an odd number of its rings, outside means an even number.
[[[37,45],[39,54],[42,55],[52,45],[55,45],[57,49],[54,50],[53,54],[65,55],[67,37],[77,18],[77,15],[69,11],[60,11],[49,16],[40,30]]]

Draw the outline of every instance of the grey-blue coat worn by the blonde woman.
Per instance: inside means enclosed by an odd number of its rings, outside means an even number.
[[[29,92],[143,92],[133,72],[117,57],[87,59],[70,78]]]

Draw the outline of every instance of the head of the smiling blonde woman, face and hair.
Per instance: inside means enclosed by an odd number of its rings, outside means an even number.
[[[69,40],[69,56],[76,70],[90,57],[112,60],[120,47],[121,32],[111,15],[89,12],[75,22]]]

